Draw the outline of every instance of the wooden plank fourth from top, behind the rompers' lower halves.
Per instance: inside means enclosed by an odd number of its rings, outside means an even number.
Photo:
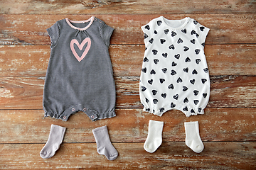
[[[139,101],[139,77],[114,77],[117,108],[142,108]],[[255,76],[210,77],[210,101],[207,108],[256,107]],[[41,109],[43,77],[0,78],[0,109]]]

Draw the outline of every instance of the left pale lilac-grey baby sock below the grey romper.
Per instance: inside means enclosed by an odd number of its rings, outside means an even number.
[[[50,126],[50,135],[48,137],[48,141],[46,145],[40,152],[40,156],[42,158],[50,158],[53,157],[55,152],[59,149],[60,144],[63,142],[63,137],[65,134],[66,128],[63,128],[58,125]]]

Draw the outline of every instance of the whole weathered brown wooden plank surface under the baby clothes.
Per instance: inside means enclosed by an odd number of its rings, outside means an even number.
[[[11,1],[0,4],[0,169],[255,169],[256,2],[229,1]],[[82,112],[68,122],[44,118],[43,84],[50,57],[46,33],[63,18],[102,19],[115,28],[110,57],[117,89],[117,116],[91,122]],[[144,56],[141,26],[164,16],[196,19],[210,28],[206,60],[210,101],[204,115],[142,111],[139,75]],[[163,143],[143,148],[149,120],[164,121]],[[185,144],[184,122],[198,121],[205,149]],[[50,159],[39,155],[50,125],[67,128]],[[97,154],[92,129],[107,125],[119,157]]]

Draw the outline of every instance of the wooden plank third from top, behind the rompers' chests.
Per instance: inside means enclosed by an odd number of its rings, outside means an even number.
[[[210,75],[255,75],[256,45],[206,45]],[[1,77],[44,77],[50,47],[46,45],[0,45]],[[144,45],[111,45],[114,76],[139,76]]]

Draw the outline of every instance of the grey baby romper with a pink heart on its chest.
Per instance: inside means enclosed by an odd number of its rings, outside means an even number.
[[[43,91],[45,116],[67,121],[83,111],[95,121],[116,115],[108,50],[113,30],[94,16],[86,21],[65,18],[47,29],[51,50]]]

